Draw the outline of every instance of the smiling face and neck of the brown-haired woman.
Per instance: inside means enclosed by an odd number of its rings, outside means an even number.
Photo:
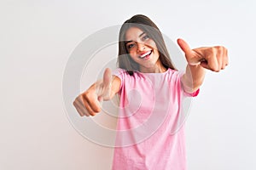
[[[137,27],[131,27],[125,34],[125,48],[142,72],[160,70],[159,51],[147,33]]]

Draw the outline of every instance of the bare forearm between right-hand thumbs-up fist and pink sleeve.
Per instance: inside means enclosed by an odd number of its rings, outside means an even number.
[[[201,87],[206,74],[206,69],[201,65],[187,65],[182,77],[183,89],[188,93],[195,92]]]

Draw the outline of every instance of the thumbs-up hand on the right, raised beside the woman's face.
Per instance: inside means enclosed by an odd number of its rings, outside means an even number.
[[[191,49],[183,39],[177,39],[177,43],[185,53],[189,65],[201,65],[218,72],[229,64],[228,50],[222,46]]]

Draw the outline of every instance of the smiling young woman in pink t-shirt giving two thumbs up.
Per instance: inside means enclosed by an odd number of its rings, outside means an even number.
[[[95,116],[102,100],[119,94],[113,169],[186,169],[184,127],[178,125],[182,101],[199,93],[206,69],[223,70],[228,56],[221,46],[177,43],[188,62],[185,73],[172,65],[154,22],[142,14],[131,17],[119,31],[119,69],[106,69],[73,102],[80,116]]]

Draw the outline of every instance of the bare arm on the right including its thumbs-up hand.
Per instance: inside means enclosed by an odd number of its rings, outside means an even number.
[[[206,69],[218,72],[228,65],[228,51],[222,46],[191,49],[182,39],[178,39],[177,43],[188,61],[186,72],[181,80],[183,89],[188,93],[193,93],[200,88]]]

